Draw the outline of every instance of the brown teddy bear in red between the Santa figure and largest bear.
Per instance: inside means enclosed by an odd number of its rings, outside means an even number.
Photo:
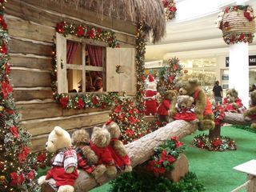
[[[158,115],[160,122],[169,122],[168,111],[170,110],[171,102],[176,98],[176,90],[166,90],[163,95],[162,103],[158,106]]]

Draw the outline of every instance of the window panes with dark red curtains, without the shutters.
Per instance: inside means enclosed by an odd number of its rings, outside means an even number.
[[[66,78],[69,93],[106,91],[106,47],[66,41]],[[104,81],[104,82],[103,82]]]

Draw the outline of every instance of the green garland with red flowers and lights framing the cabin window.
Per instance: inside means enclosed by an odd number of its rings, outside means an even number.
[[[117,47],[118,41],[114,36],[114,32],[108,30],[102,30],[93,26],[82,26],[72,24],[69,22],[60,22],[56,26],[56,31],[63,36],[68,34],[75,35],[79,38],[90,38],[102,42],[107,42],[110,47]],[[55,47],[54,47],[55,50]],[[82,110],[87,107],[90,108],[106,108],[111,106],[115,98],[118,97],[118,93],[109,92],[101,94],[58,94],[57,93],[57,60],[55,52],[52,56],[52,90],[54,92],[54,98],[63,109],[77,109]]]

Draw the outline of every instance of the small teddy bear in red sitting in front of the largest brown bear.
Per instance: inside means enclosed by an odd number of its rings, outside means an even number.
[[[172,118],[174,120],[194,121],[197,117],[194,114],[193,103],[194,98],[189,95],[178,95]]]

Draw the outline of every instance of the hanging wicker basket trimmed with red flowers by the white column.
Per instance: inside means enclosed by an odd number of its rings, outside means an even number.
[[[250,6],[230,6],[223,13],[220,29],[226,44],[253,42],[255,22]]]

